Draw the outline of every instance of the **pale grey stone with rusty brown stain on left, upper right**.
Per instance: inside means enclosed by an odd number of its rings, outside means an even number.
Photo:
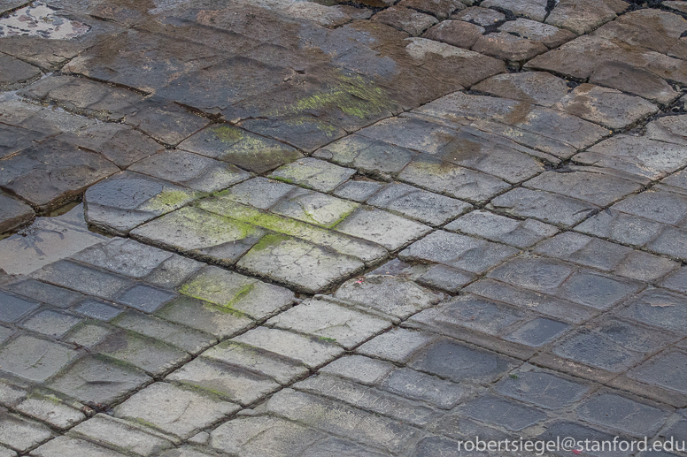
[[[638,120],[659,110],[652,103],[639,97],[591,84],[576,87],[570,94],[561,98],[559,103],[553,105],[553,108],[614,129],[632,126]]]

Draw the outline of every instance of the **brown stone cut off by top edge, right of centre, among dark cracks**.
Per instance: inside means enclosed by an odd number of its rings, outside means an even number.
[[[613,20],[628,5],[619,0],[561,0],[546,18],[547,24],[567,28],[575,34],[586,34]]]

